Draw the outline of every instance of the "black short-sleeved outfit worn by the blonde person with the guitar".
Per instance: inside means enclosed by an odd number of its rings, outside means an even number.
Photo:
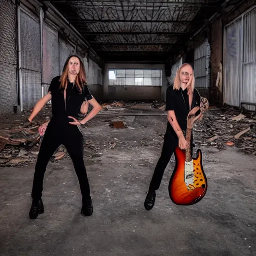
[[[199,92],[194,89],[193,101],[191,109],[195,106],[200,106]],[[183,132],[186,132],[187,127],[187,115],[189,113],[189,101],[187,95],[187,89],[184,91],[180,88],[174,90],[173,86],[169,86],[166,91],[166,111],[174,110],[177,118],[177,122]],[[156,164],[154,174],[149,186],[149,191],[157,190],[160,187],[162,176],[165,168],[167,167],[170,158],[178,146],[178,137],[172,126],[168,122],[166,133],[164,135],[164,142],[162,147],[161,156]],[[191,141],[192,146],[192,141]]]

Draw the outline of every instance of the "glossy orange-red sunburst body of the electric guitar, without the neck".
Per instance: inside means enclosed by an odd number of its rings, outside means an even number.
[[[192,182],[185,183],[186,152],[179,147],[175,149],[176,165],[169,182],[170,199],[177,205],[192,205],[199,202],[207,191],[207,178],[202,167],[202,152],[196,152],[192,158]],[[191,175],[190,175],[191,181]]]

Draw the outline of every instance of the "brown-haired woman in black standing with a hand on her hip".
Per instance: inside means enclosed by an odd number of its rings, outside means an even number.
[[[81,214],[90,216],[93,212],[89,181],[83,161],[83,135],[78,126],[84,125],[92,119],[101,110],[101,106],[91,95],[86,84],[86,73],[82,60],[76,55],[71,55],[65,62],[62,75],[53,78],[47,95],[36,103],[28,118],[31,122],[51,100],[52,118],[47,124],[35,165],[33,201],[29,212],[31,219],[37,218],[38,214],[44,212],[41,199],[44,173],[50,157],[61,144],[66,147],[79,180],[82,194]],[[93,109],[85,118],[78,121],[78,113],[88,106],[86,102],[91,104]]]

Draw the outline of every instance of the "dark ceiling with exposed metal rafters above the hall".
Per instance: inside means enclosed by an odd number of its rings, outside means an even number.
[[[137,54],[164,59],[183,50],[224,1],[51,0],[103,59],[122,60]]]

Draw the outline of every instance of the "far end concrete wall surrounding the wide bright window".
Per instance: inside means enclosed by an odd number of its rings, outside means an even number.
[[[162,86],[109,86],[109,69],[161,69]],[[167,80],[165,75],[165,64],[145,64],[145,63],[106,63],[103,81],[104,99],[116,100],[165,100]]]

